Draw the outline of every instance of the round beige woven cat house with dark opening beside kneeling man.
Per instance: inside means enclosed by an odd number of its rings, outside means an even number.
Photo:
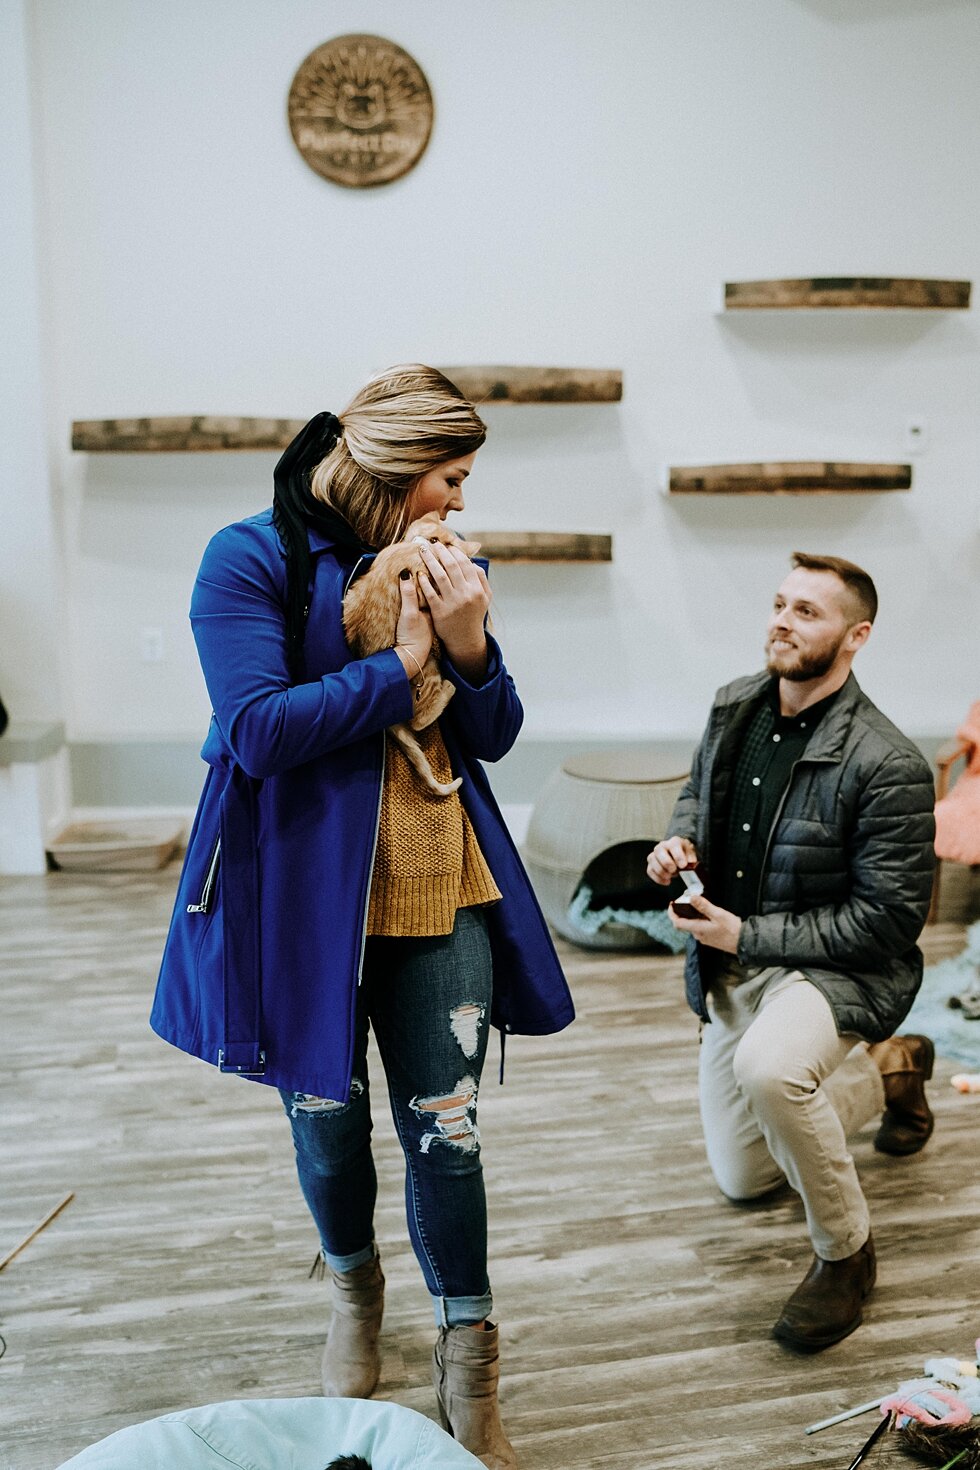
[[[669,836],[686,779],[683,761],[642,747],[573,756],[550,776],[523,856],[545,919],[564,939],[588,950],[657,942],[632,923],[607,922],[591,932],[569,910],[583,883],[592,889],[591,910],[667,907],[670,891],[646,878],[646,853]]]

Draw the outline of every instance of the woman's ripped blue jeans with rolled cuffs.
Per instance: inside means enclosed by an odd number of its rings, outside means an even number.
[[[367,1028],[388,1082],[406,1155],[408,1235],[436,1322],[489,1316],[486,1195],[476,1095],[489,1030],[492,964],[486,916],[460,908],[453,933],[366,942],[348,1102],[281,1092],[300,1186],[336,1272],[375,1251],[378,1177],[370,1150]]]

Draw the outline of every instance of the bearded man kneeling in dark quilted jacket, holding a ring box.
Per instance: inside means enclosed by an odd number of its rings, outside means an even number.
[[[708,1161],[732,1200],[783,1180],[815,1257],[773,1327],[801,1351],[839,1342],[874,1286],[868,1208],[846,1136],[884,1110],[874,1147],[912,1154],[933,1129],[933,1045],[893,1036],[918,989],[933,876],[930,769],[861,692],[867,572],[796,551],[768,620],[767,667],[723,688],[657,883],[699,864],[688,1000],[702,1022]]]

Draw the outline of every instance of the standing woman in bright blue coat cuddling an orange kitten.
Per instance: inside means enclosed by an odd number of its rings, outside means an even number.
[[[383,1277],[366,1070],[369,1023],[406,1154],[408,1230],[433,1298],[444,1426],[514,1466],[497,1408],[476,1098],[488,1028],[573,1017],[482,760],[522,709],[485,631],[483,570],[425,545],[395,647],[351,659],[341,603],[364,556],[426,512],[463,509],[486,428],[430,368],[373,378],[276,466],[273,507],[220,531],[191,623],[215,714],[151,1025],[223,1072],[278,1086],[320,1233],[334,1317],[323,1391],[378,1380]],[[455,686],[420,734],[450,798],[425,792],[389,725],[411,714],[432,635]]]

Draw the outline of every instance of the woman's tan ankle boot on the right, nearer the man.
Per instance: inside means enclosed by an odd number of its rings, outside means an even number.
[[[497,1327],[441,1327],[432,1349],[439,1423],[488,1470],[517,1470],[497,1405]]]

